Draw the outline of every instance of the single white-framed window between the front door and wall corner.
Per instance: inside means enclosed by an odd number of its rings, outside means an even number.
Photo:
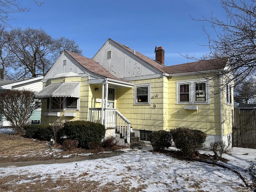
[[[134,104],[150,104],[150,84],[135,85]]]

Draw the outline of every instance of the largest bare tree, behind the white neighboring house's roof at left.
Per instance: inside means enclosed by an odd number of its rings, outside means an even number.
[[[17,79],[44,76],[51,67],[53,39],[43,29],[13,29],[9,34],[9,49],[13,54]]]

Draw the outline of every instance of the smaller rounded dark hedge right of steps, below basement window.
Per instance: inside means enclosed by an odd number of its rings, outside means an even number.
[[[164,150],[164,148],[172,146],[172,134],[165,130],[151,132],[149,141],[155,151]]]

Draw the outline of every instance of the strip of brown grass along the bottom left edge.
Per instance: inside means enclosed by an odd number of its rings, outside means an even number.
[[[33,180],[33,182],[31,182]],[[78,179],[75,177],[52,179],[50,176],[12,175],[0,180],[0,192],[139,192],[147,188],[146,185],[139,185],[130,190],[130,184],[124,186],[123,183],[111,183],[101,185],[98,181],[88,181],[86,178]]]

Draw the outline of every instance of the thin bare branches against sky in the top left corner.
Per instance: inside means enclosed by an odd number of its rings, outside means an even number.
[[[44,0],[33,0],[38,6],[41,6],[44,3]],[[29,7],[20,6],[20,1],[17,0],[0,0],[0,21],[10,26],[8,23],[10,20],[14,20],[12,16],[13,13],[28,12]]]

